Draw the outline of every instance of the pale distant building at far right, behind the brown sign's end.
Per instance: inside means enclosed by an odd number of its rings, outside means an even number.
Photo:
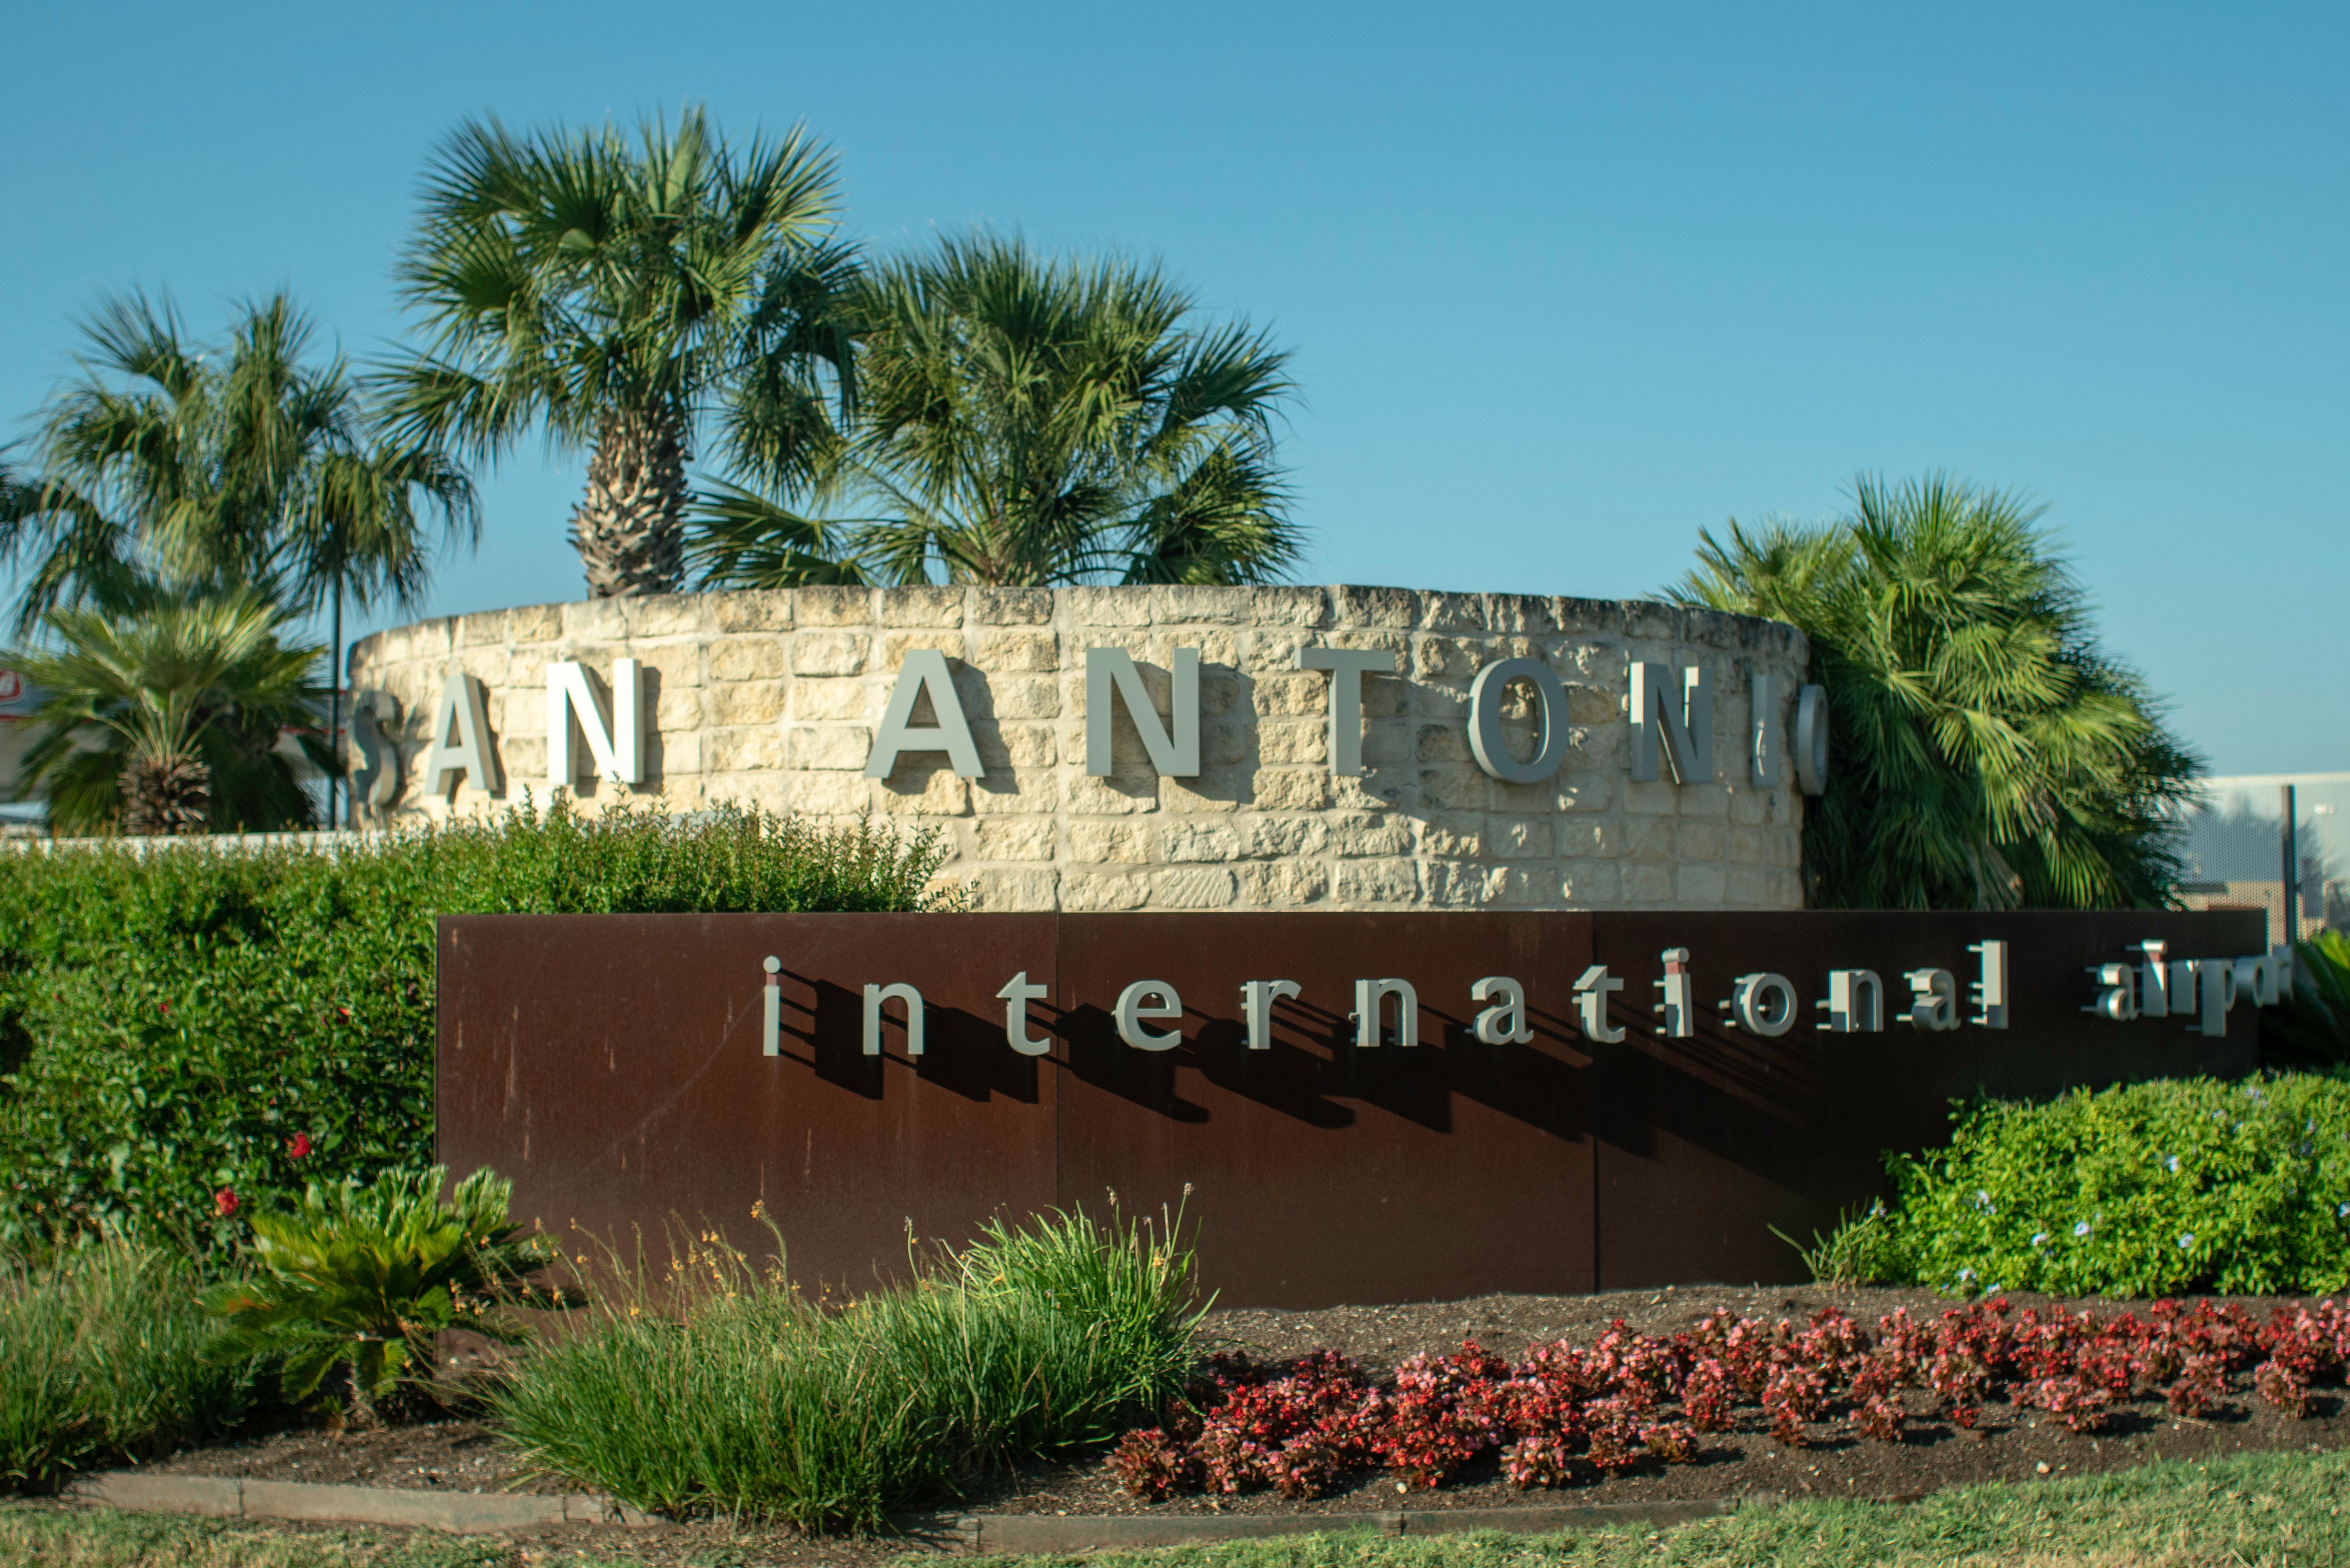
[[[2193,910],[2268,910],[2268,940],[2284,940],[2284,802],[2294,785],[2301,931],[2350,929],[2350,773],[2240,773],[2200,780],[2181,823],[2186,903]]]

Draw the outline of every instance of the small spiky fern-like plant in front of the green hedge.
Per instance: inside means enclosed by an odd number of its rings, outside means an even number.
[[[496,1171],[461,1180],[442,1208],[446,1175],[442,1166],[385,1171],[367,1187],[345,1178],[313,1185],[294,1213],[256,1213],[251,1260],[261,1272],[202,1295],[204,1312],[221,1319],[212,1354],[275,1361],[287,1401],[308,1399],[345,1366],[350,1415],[374,1422],[376,1401],[411,1366],[432,1371],[442,1328],[526,1340],[529,1331],[496,1307],[555,1248],[508,1222],[515,1185]]]

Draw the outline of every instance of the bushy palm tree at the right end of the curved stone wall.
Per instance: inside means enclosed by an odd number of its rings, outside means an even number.
[[[1812,642],[1838,766],[1805,816],[1828,907],[2155,907],[2200,762],[2096,646],[2044,508],[1946,475],[1861,477],[1826,524],[1699,536],[1673,597]]]

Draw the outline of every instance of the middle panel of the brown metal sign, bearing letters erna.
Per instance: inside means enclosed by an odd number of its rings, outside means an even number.
[[[1065,914],[1062,1201],[1187,1201],[1201,1274],[1234,1305],[1589,1291],[1589,1056],[1570,1030],[1589,952],[1589,914]],[[1532,1039],[1473,1037],[1490,976],[1525,987]],[[1386,978],[1412,990],[1412,1046],[1401,994],[1379,999],[1379,1044],[1356,1044],[1356,985]],[[1147,1023],[1168,1048],[1119,1034],[1144,980],[1180,997]],[[1248,980],[1297,990],[1267,1001],[1264,1048]]]

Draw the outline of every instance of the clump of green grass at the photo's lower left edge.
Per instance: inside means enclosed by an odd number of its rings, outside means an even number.
[[[207,1359],[195,1267],[106,1237],[0,1272],[0,1486],[228,1432],[249,1363]]]

